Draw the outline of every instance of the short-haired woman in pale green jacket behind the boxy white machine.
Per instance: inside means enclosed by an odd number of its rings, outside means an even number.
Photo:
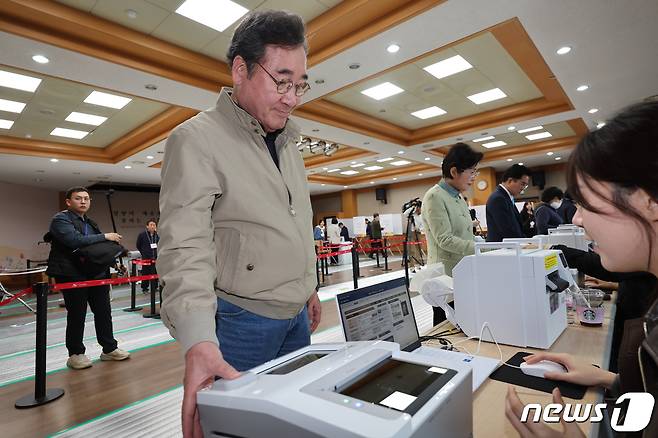
[[[422,217],[427,236],[427,263],[443,263],[447,275],[467,255],[475,252],[473,221],[461,196],[478,175],[482,153],[457,143],[443,159],[443,178],[423,198]],[[443,309],[434,307],[434,325],[445,320]]]

